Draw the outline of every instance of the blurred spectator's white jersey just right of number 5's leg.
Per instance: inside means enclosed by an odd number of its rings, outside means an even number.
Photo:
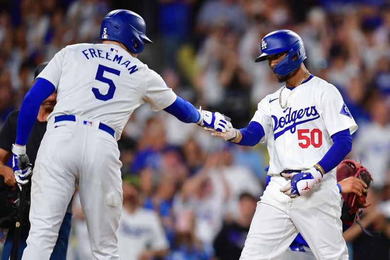
[[[144,208],[138,208],[132,214],[123,209],[117,237],[118,254],[123,260],[136,260],[146,249],[169,249],[164,228],[156,212]]]

